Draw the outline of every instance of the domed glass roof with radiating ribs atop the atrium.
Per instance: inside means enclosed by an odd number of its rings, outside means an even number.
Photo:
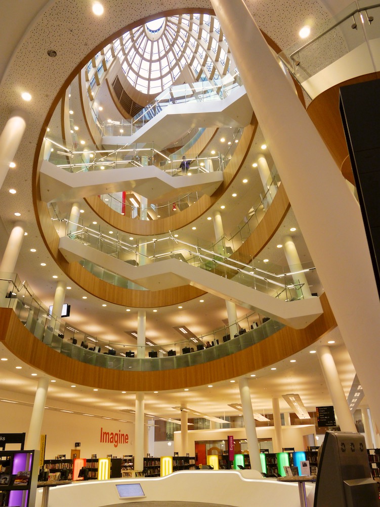
[[[160,93],[184,69],[184,81],[210,81],[226,75],[231,64],[220,24],[209,14],[149,21],[114,41],[114,50],[128,81],[146,94]]]

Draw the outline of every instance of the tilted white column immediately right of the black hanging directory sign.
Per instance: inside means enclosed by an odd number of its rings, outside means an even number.
[[[318,347],[317,354],[341,431],[354,431],[356,433],[354,419],[350,412],[330,347],[326,345]]]

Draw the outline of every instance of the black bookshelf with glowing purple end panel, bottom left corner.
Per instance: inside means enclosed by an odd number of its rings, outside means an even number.
[[[0,452],[0,505],[29,507],[33,457],[34,451]]]

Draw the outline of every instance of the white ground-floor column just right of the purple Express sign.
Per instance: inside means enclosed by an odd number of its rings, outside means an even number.
[[[239,391],[241,406],[243,407],[244,426],[248,443],[250,467],[254,470],[259,470],[259,472],[262,472],[263,469],[261,467],[259,441],[257,438],[254,411],[252,410],[252,402],[250,399],[250,391],[247,378],[242,377],[239,379]]]

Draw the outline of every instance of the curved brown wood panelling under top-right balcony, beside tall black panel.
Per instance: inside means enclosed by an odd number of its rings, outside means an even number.
[[[349,79],[322,92],[307,108],[307,112],[326,143],[333,159],[346,179],[355,185],[348,148],[339,111],[339,89],[342,86],[379,79],[380,73]],[[364,98],[363,98],[364,99]]]

